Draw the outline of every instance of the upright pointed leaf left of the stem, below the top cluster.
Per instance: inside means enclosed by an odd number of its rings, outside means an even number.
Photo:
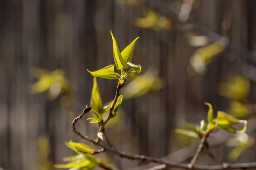
[[[91,94],[91,99],[90,99],[90,105],[93,107],[93,109],[97,113],[102,113],[102,99],[100,97],[100,92],[99,92],[99,86],[97,83],[97,78],[93,77],[93,89],[92,89],[92,94]],[[96,116],[98,117],[98,116]]]

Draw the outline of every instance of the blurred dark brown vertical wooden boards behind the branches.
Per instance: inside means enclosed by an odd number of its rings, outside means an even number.
[[[191,18],[221,34],[224,12],[234,15],[231,40],[254,50],[256,27],[254,0],[201,0]],[[72,139],[82,142],[71,131],[67,111],[59,100],[49,102],[45,94],[30,95],[28,85],[35,82],[29,75],[32,66],[54,70],[63,68],[76,87],[81,107],[90,102],[92,76],[96,70],[113,63],[110,30],[119,48],[125,48],[140,36],[134,51],[134,63],[143,71],[149,66],[160,70],[166,86],[123,103],[124,133],[116,131],[111,141],[129,153],[163,157],[180,148],[174,128],[180,119],[197,122],[205,118],[210,102],[214,111],[227,107],[227,100],[216,93],[221,75],[226,74],[224,57],[209,65],[205,76],[190,76],[186,69],[195,50],[174,28],[153,31],[132,25],[132,18],[142,16],[142,6],[122,6],[114,0],[1,0],[0,1],[0,167],[11,170],[35,170],[38,164],[38,137],[46,135],[51,142],[51,159],[61,163],[73,152],[64,145]],[[168,9],[163,9],[167,11]],[[229,71],[230,72],[230,71]],[[102,99],[113,99],[116,81],[99,79]],[[251,101],[255,99],[255,82],[251,83]],[[83,133],[96,136],[96,127],[82,125]],[[116,128],[118,129],[118,128]],[[129,142],[127,142],[129,141]],[[224,145],[214,153],[227,161]],[[113,157],[120,169],[139,162]],[[210,163],[201,159],[201,163]],[[200,160],[199,160],[200,161]],[[255,161],[248,151],[239,161]]]

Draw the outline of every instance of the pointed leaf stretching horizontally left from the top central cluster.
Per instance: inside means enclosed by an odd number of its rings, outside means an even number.
[[[89,71],[88,69],[87,71],[94,77],[100,77],[104,79],[118,79],[120,75],[114,72],[114,66],[115,65],[108,65],[107,67],[104,67],[98,71]]]

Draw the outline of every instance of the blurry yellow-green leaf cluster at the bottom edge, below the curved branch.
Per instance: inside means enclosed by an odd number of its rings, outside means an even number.
[[[70,156],[63,159],[67,164],[57,164],[55,168],[67,168],[70,170],[93,170],[98,166],[98,160],[92,155],[94,150],[81,143],[65,142],[67,147],[78,153],[76,156]]]

